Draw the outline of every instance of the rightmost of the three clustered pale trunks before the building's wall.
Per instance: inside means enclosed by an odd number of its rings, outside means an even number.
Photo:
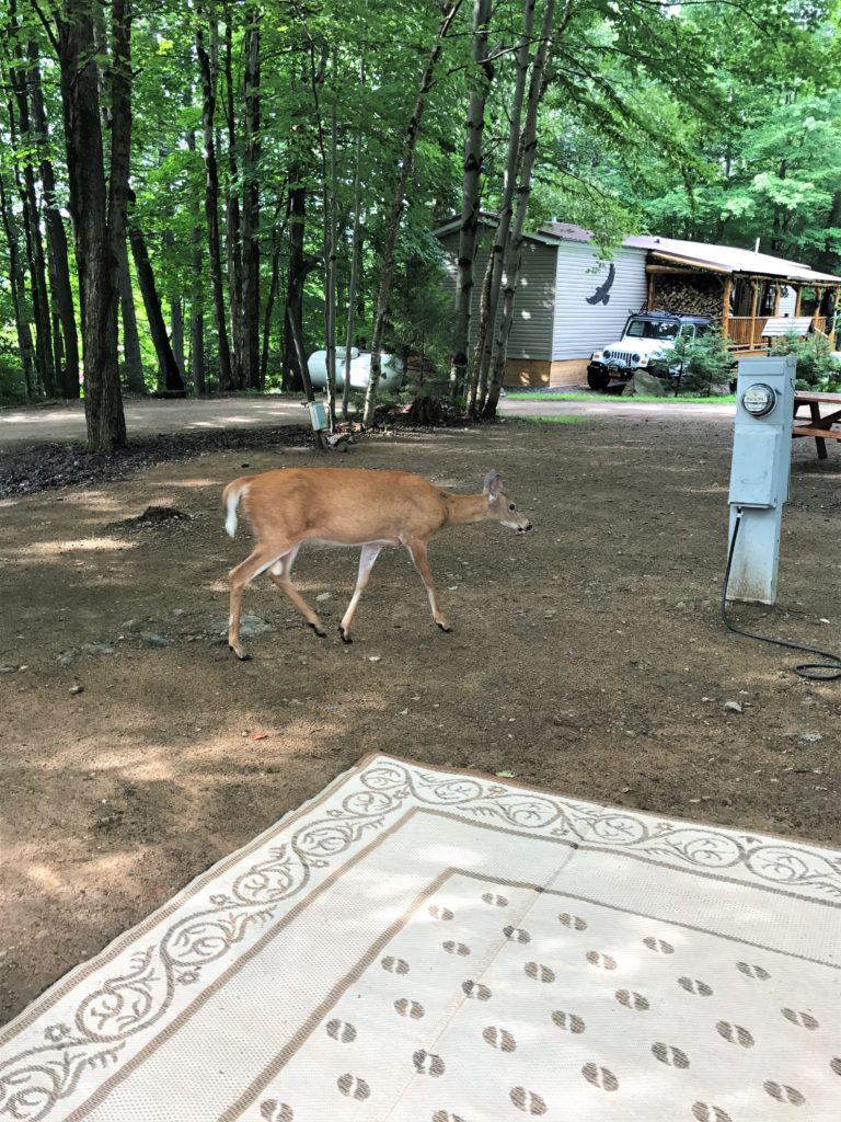
[[[526,226],[526,214],[528,213],[528,200],[532,194],[532,172],[537,156],[537,111],[540,108],[544,94],[549,83],[552,72],[552,55],[557,37],[563,33],[569,21],[569,2],[564,12],[564,18],[558,27],[555,22],[555,0],[546,0],[543,12],[543,26],[540,28],[540,45],[537,48],[535,62],[532,67],[532,81],[528,91],[528,104],[526,108],[526,120],[523,126],[523,135],[519,144],[519,176],[517,183],[517,212],[511,226],[510,237],[506,247],[505,274],[506,291],[502,303],[502,320],[499,324],[497,337],[496,355],[493,359],[493,379],[487,395],[482,402],[482,416],[493,417],[497,415],[497,404],[499,403],[499,392],[505,377],[506,357],[508,353],[508,337],[511,333],[514,323],[514,301],[517,294],[517,278],[519,276],[520,260],[523,257],[523,231]]]

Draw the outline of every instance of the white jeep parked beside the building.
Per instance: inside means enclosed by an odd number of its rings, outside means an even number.
[[[668,362],[668,352],[680,337],[695,339],[710,323],[706,315],[671,315],[667,312],[636,312],[628,316],[622,338],[602,350],[593,351],[586,368],[591,389],[607,389],[628,381],[636,370],[660,377],[677,376]]]

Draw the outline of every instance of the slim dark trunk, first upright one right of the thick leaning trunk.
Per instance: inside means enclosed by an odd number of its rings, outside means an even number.
[[[207,221],[207,249],[210,256],[213,312],[219,339],[219,388],[225,393],[233,389],[231,349],[225,324],[225,301],[222,284],[222,249],[219,237],[219,167],[213,139],[213,119],[216,112],[216,29],[211,28],[211,54],[204,49],[204,36],[195,33],[196,56],[202,81],[202,129],[204,145],[204,211]]]

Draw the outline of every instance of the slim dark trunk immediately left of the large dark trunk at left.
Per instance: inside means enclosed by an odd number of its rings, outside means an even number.
[[[62,212],[56,202],[53,162],[47,156],[49,129],[44,108],[40,71],[38,68],[38,44],[34,40],[29,43],[28,55],[33,128],[41,154],[39,166],[40,182],[44,190],[44,219],[47,229],[50,288],[53,304],[61,324],[61,352],[58,343],[55,347],[56,383],[57,389],[63,397],[78,397],[78,333],[76,331],[76,310],[73,304],[73,289],[71,287],[67,233],[64,229]],[[63,360],[59,360],[59,353],[63,355]]]

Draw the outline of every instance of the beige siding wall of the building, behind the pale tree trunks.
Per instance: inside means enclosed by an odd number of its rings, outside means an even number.
[[[454,294],[459,236],[450,233],[441,241],[446,252],[446,286]],[[490,242],[483,242],[473,265],[473,294],[470,302],[471,344],[475,342],[479,301],[489,254]],[[533,241],[526,241],[523,246],[523,264],[517,278],[517,296],[514,301],[514,323],[508,340],[508,358],[548,360],[552,357],[556,258],[557,249],[554,246],[543,246]],[[505,277],[502,282],[505,283]],[[499,323],[500,314],[501,300],[497,323]]]

